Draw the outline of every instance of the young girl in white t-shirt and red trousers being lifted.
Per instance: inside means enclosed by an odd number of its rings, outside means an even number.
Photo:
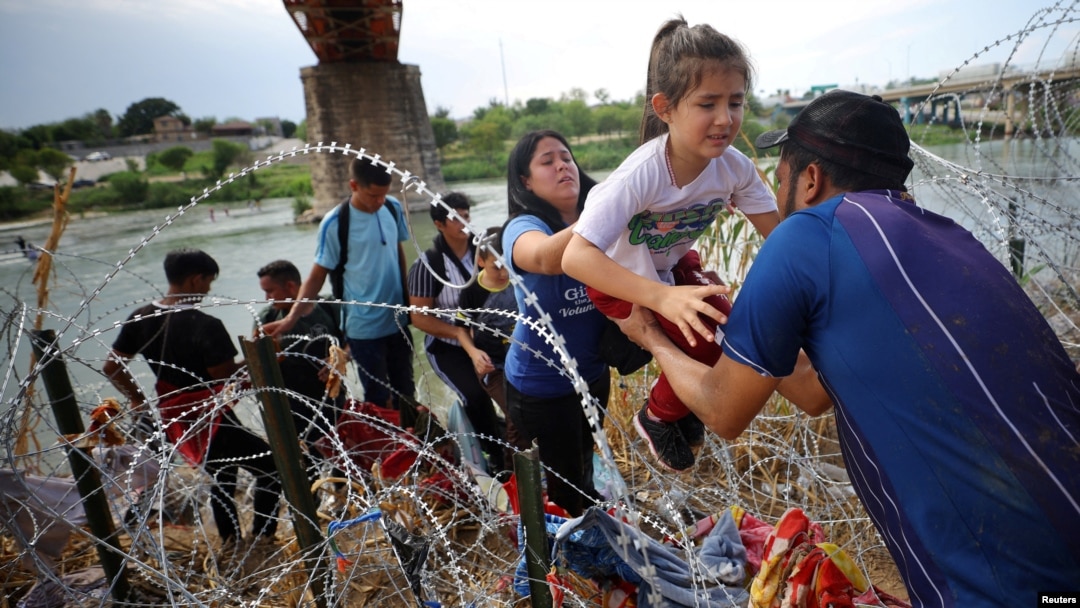
[[[754,163],[731,148],[752,81],[734,40],[681,16],[661,26],[649,55],[642,145],[590,192],[563,255],[563,270],[588,285],[600,312],[625,319],[633,305],[645,307],[684,352],[708,365],[720,356],[717,324],[731,305],[692,247],[726,208],[766,237],[780,222]],[[674,471],[692,467],[692,447],[704,442],[701,421],[663,375],[634,427]]]

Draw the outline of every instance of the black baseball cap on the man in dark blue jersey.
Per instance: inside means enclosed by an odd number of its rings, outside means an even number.
[[[792,120],[787,129],[762,133],[759,149],[785,141],[826,161],[904,181],[915,163],[907,157],[912,141],[896,109],[877,95],[834,90],[818,97]]]

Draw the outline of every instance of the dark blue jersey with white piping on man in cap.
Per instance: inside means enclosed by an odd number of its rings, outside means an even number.
[[[1080,375],[951,219],[883,190],[792,214],[723,346],[773,377],[805,349],[914,606],[1000,606],[1080,581]]]

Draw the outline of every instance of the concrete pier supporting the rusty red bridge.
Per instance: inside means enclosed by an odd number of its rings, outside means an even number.
[[[445,190],[435,136],[420,87],[420,68],[396,62],[319,64],[302,68],[308,141],[351,144],[420,177],[432,191]],[[349,194],[343,154],[311,158],[313,211],[322,216]],[[390,186],[394,194],[397,179]],[[423,204],[416,201],[414,204]]]

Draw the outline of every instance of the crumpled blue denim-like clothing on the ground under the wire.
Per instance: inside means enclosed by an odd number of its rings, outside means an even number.
[[[742,587],[746,576],[746,549],[739,527],[725,511],[700,548],[694,549],[691,573],[680,551],[662,544],[640,530],[593,506],[576,519],[546,515],[554,536],[553,563],[590,579],[618,577],[638,585],[637,606],[745,606],[750,595]],[[519,533],[524,539],[525,535]],[[696,589],[697,587],[697,589]],[[519,562],[514,589],[529,595],[528,570]]]

